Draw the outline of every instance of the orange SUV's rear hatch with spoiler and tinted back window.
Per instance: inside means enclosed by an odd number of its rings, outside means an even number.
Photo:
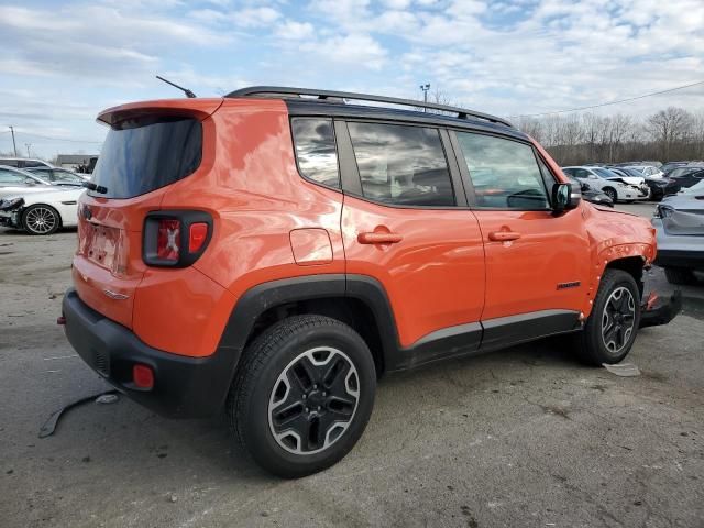
[[[118,107],[89,189],[78,206],[74,284],[103,316],[132,328],[142,260],[144,219],[158,210],[168,186],[201,167],[204,127],[221,99],[156,101]]]

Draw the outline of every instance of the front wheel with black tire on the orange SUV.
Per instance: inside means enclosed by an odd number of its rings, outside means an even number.
[[[616,304],[623,302],[626,302],[624,309],[616,310]],[[626,312],[630,315],[624,315]],[[576,337],[580,358],[591,365],[618,363],[630,352],[639,324],[640,292],[636,280],[622,270],[606,270],[592,314]]]

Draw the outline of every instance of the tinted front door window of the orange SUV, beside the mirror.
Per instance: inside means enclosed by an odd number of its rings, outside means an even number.
[[[491,135],[457,135],[477,207],[548,209],[550,201],[532,147]]]

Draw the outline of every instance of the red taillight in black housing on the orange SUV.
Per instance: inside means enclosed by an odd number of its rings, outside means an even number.
[[[142,257],[150,266],[185,267],[206,251],[212,217],[204,211],[154,211],[144,220]]]

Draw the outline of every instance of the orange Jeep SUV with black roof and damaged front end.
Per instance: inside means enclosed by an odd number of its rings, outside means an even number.
[[[254,87],[98,119],[68,340],[161,414],[224,409],[282,476],[352,449],[384,373],[556,334],[616,363],[678,309],[641,300],[648,221],[493,116]]]

